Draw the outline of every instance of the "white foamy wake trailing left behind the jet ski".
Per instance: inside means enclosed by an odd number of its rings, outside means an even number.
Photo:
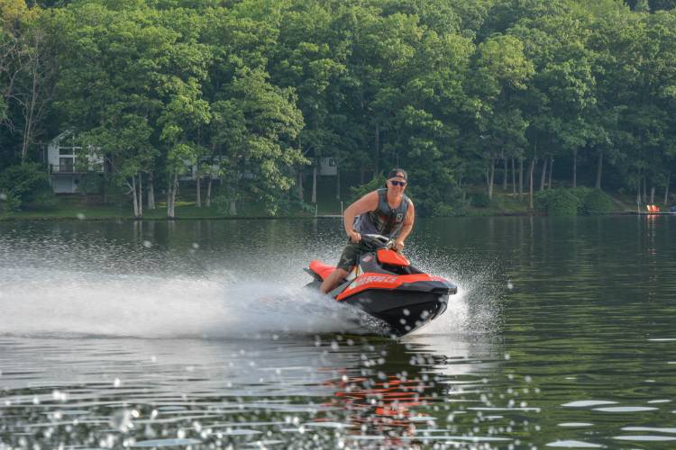
[[[0,334],[224,338],[357,331],[357,311],[302,288],[18,267],[3,272]]]

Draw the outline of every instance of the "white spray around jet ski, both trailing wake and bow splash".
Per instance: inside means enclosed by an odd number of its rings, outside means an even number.
[[[0,335],[255,338],[379,332],[363,326],[361,311],[302,288],[310,281],[302,267],[312,257],[332,255],[336,245],[280,252],[277,260],[251,255],[250,266],[216,258],[205,265],[211,270],[196,271],[195,245],[182,254],[96,237],[68,244],[0,238]],[[458,258],[412,253],[422,263],[416,266],[459,287],[443,315],[415,334],[485,334],[497,328],[492,270],[471,271]],[[137,271],[144,275],[132,275]]]

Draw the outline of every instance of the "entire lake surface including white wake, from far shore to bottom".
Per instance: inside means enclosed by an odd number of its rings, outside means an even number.
[[[418,220],[395,341],[301,289],[339,220],[0,222],[0,449],[674,448],[675,233]]]

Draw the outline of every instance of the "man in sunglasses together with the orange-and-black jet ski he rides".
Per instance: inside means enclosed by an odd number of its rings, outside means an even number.
[[[386,188],[352,203],[343,213],[350,241],[338,266],[315,260],[308,270],[315,276],[311,285],[387,322],[397,336],[440,315],[448,296],[457,292],[454,284],[421,272],[400,254],[415,219],[406,185],[406,171],[396,168],[389,172]]]

